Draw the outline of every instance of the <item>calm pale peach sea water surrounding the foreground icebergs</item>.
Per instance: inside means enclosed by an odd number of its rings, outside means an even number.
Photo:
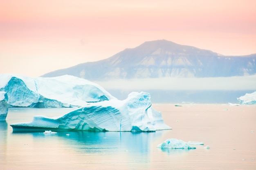
[[[256,105],[153,107],[173,130],[13,133],[11,123],[74,109],[10,108],[6,122],[0,122],[0,170],[256,170]],[[205,144],[195,150],[156,148],[168,138]]]

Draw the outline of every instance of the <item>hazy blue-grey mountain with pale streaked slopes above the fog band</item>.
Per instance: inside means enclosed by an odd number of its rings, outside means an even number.
[[[256,54],[223,56],[210,50],[155,40],[125,49],[104,60],[59,69],[43,77],[69,74],[89,80],[109,80],[245,76],[256,74],[255,61]]]

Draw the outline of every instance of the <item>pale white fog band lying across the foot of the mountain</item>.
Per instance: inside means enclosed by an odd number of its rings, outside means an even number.
[[[256,75],[213,78],[144,78],[96,81],[115,90],[256,90]]]

